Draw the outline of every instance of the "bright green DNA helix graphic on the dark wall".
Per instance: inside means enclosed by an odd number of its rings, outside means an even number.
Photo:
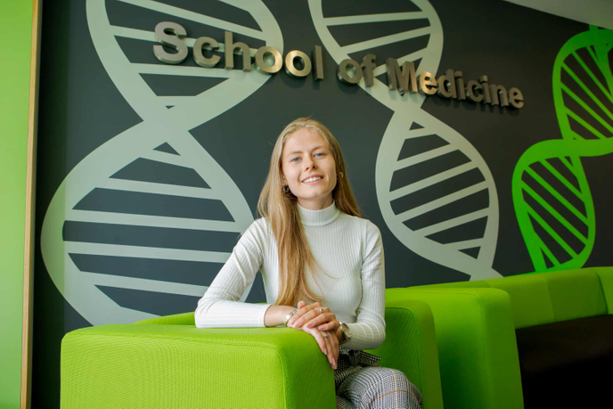
[[[535,143],[519,159],[512,197],[535,272],[584,266],[596,216],[582,158],[613,152],[613,31],[591,26],[562,46],[553,101],[562,139]]]

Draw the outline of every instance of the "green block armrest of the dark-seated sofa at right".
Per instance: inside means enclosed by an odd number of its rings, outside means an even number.
[[[511,299],[496,289],[389,289],[432,310],[443,399],[454,408],[523,407]]]

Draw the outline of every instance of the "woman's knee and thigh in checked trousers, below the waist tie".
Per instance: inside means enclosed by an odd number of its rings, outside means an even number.
[[[368,366],[353,373],[340,384],[337,395],[356,409],[421,409],[421,393],[401,371]]]

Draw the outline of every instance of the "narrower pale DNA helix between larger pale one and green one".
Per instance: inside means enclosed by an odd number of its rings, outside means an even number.
[[[309,0],[317,34],[337,63],[347,58],[359,61],[351,55],[368,52],[377,55],[378,63],[388,57],[397,58],[400,66],[405,61],[419,61],[418,72],[436,75],[443,49],[437,12],[426,0],[404,4],[413,10],[324,17],[322,0]],[[354,44],[340,45],[335,37],[339,36],[338,27],[359,25],[365,36],[381,22],[404,21],[409,27],[417,20],[428,24],[384,37],[372,33],[370,39]],[[405,47],[407,40],[426,36],[427,45]],[[401,54],[386,54],[390,45],[397,45]],[[377,78],[385,73],[386,66],[381,64],[374,70],[374,85],[366,87],[362,79],[359,86],[394,111],[380,143],[375,175],[377,199],[389,230],[421,257],[469,274],[471,280],[500,277],[492,268],[498,197],[485,160],[462,135],[421,110],[422,94],[401,96],[388,90]],[[467,233],[473,236],[467,237]]]

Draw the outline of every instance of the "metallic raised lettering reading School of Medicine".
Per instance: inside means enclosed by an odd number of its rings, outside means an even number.
[[[153,45],[153,53],[159,61],[168,64],[180,64],[185,61],[188,54],[188,47],[183,38],[187,36],[187,31],[183,26],[171,22],[162,21],[155,27],[155,37],[162,45],[174,48],[176,53],[168,53],[161,45]],[[313,61],[306,53],[298,50],[290,51],[285,55],[285,61],[279,51],[273,47],[263,46],[257,49],[254,57],[251,57],[249,45],[245,43],[234,43],[233,33],[225,31],[223,45],[219,45],[217,40],[211,37],[199,37],[193,45],[193,59],[200,67],[213,68],[217,66],[221,57],[212,55],[205,57],[203,50],[219,50],[225,53],[225,69],[233,70],[233,54],[242,55],[242,70],[250,71],[252,60],[255,60],[257,70],[266,74],[276,74],[283,65],[285,72],[292,78],[304,78],[313,71],[315,80],[323,79],[323,58],[322,47],[315,45],[313,50]],[[228,50],[231,50],[228,52]],[[298,60],[298,61],[297,61]],[[347,59],[340,61],[337,76],[340,81],[348,85],[356,85],[364,78],[364,85],[371,87],[374,84],[373,72],[377,67],[375,54],[364,55],[362,63]],[[284,63],[283,63],[284,62]],[[405,61],[402,68],[398,65],[395,58],[388,58],[386,61],[388,68],[388,87],[390,90],[397,90],[400,94],[417,93],[425,95],[437,94],[442,98],[469,100],[471,102],[488,103],[490,105],[500,105],[508,107],[511,104],[514,108],[524,106],[524,96],[518,88],[512,87],[507,91],[504,86],[487,83],[487,76],[481,76],[478,81],[471,79],[464,84],[462,71],[446,70],[444,75],[438,78],[424,71],[417,75],[413,61]],[[298,68],[299,67],[299,68]]]

